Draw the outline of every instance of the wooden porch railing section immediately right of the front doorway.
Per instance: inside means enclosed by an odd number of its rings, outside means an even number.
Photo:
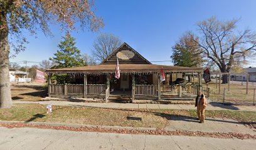
[[[157,85],[136,84],[135,95],[156,96]]]

